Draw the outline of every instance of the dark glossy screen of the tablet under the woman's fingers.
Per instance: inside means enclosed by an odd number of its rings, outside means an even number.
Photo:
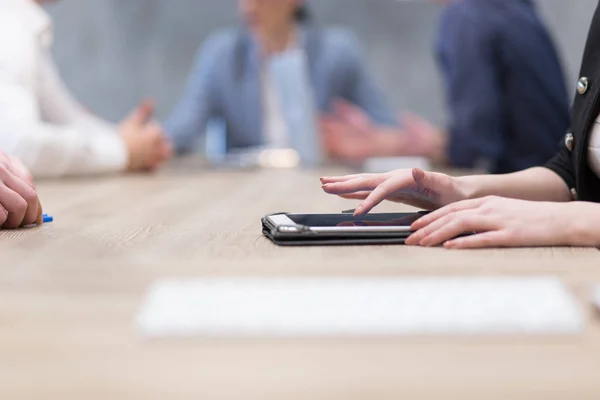
[[[337,226],[410,226],[423,213],[367,214],[353,217],[352,214],[288,214],[294,223],[310,227]]]

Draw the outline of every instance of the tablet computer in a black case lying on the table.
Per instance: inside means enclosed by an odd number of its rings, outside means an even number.
[[[427,212],[367,214],[278,213],[262,219],[263,234],[281,246],[404,244]]]

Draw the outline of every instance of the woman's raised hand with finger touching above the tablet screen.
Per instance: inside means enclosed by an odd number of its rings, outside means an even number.
[[[420,169],[326,177],[321,183],[329,194],[363,200],[355,216],[368,213],[384,200],[435,210],[469,198],[469,189],[456,178]]]

